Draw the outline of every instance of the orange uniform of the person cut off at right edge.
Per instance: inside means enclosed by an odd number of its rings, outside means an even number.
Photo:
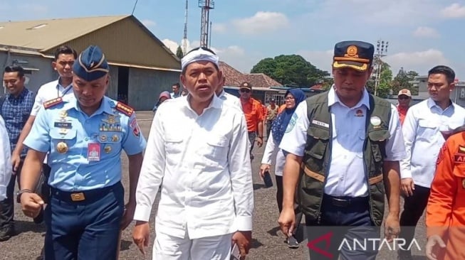
[[[465,259],[465,131],[446,140],[427,205],[427,235],[442,237],[438,259]]]

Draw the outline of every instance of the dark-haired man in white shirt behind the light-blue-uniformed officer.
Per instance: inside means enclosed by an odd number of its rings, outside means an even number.
[[[11,163],[14,170],[19,167],[21,161],[20,155],[23,151],[23,141],[28,136],[29,132],[32,129],[32,124],[36,120],[36,115],[38,111],[43,107],[43,102],[47,100],[55,99],[57,97],[62,97],[63,99],[68,99],[68,97],[73,97],[73,75],[71,73],[71,67],[73,67],[74,60],[78,57],[73,48],[68,46],[58,47],[55,51],[55,58],[52,62],[53,70],[58,72],[58,80],[53,80],[48,82],[45,85],[42,85],[37,94],[36,100],[33,104],[31,114],[29,115],[28,121],[24,125],[21,135],[18,138],[18,143],[16,143],[16,148],[11,153]],[[48,178],[50,175],[50,167],[46,164],[46,161],[43,163],[43,174]],[[44,181],[45,189],[47,189],[47,180]],[[46,198],[44,198],[46,199]],[[36,222],[41,222],[41,215],[38,216]]]

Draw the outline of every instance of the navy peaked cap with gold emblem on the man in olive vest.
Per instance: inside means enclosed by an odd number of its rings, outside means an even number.
[[[333,68],[350,67],[366,71],[373,62],[375,47],[371,43],[346,40],[334,46]]]

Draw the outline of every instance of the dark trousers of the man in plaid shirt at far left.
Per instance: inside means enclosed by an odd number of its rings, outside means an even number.
[[[0,201],[0,227],[14,227],[14,185],[16,182],[19,186],[21,180],[21,169],[23,168],[23,161],[19,163],[18,170],[15,175],[11,175],[10,182],[6,187],[6,199]]]

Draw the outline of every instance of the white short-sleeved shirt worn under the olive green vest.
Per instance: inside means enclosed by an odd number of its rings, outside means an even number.
[[[364,90],[360,102],[354,107],[347,107],[340,102],[333,87],[328,92],[328,106],[333,126],[333,148],[330,153],[330,167],[324,189],[328,195],[349,197],[368,195],[363,160],[365,121],[367,110],[370,109],[368,95],[367,90]],[[307,102],[301,102],[288,124],[279,148],[296,156],[303,156],[309,125]],[[405,156],[405,148],[399,115],[394,105],[391,105],[389,131],[390,139],[386,141],[385,161],[399,161]]]

